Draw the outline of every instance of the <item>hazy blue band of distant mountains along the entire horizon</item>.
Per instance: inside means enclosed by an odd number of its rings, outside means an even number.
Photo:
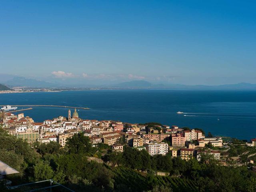
[[[216,86],[207,85],[184,85],[184,84],[170,84],[170,83],[151,83],[145,80],[133,80],[127,82],[113,83],[106,82],[105,84],[93,84],[92,82],[76,81],[62,81],[51,80],[46,82],[44,80],[36,80],[32,78],[25,78],[20,76],[1,75],[1,84],[8,87],[24,86],[33,88],[100,88],[100,89],[167,89],[167,90],[256,90],[256,84],[238,83],[238,84],[224,84]],[[6,86],[2,86],[2,90],[6,90]]]

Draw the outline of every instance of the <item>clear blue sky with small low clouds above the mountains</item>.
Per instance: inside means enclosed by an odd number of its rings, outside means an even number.
[[[256,83],[256,2],[1,0],[0,74]]]

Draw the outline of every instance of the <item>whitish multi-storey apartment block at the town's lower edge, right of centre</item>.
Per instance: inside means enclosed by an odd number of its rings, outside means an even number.
[[[150,155],[165,155],[166,153],[168,153],[169,148],[167,143],[152,142],[146,144],[146,150]]]

